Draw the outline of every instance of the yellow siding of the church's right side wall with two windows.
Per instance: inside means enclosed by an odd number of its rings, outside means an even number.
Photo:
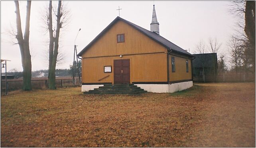
[[[175,57],[175,72],[171,72],[171,57]],[[186,60],[189,61],[189,72],[186,71]],[[169,55],[169,81],[192,79],[191,59]]]

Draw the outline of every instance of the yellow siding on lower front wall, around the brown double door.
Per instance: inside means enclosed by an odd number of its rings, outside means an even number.
[[[114,83],[114,60],[130,59],[130,83],[167,82],[167,57],[165,53],[83,58],[83,83]],[[104,73],[104,66],[112,66]],[[110,76],[108,76],[110,75]],[[100,80],[101,78],[107,78]]]

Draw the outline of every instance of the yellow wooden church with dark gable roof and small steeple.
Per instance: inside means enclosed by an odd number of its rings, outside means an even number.
[[[153,6],[150,31],[116,17],[79,54],[82,92],[104,84],[134,84],[172,93],[193,86],[193,55],[160,35]]]

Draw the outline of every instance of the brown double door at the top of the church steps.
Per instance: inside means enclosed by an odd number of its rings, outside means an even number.
[[[114,60],[114,84],[130,83],[130,59]]]

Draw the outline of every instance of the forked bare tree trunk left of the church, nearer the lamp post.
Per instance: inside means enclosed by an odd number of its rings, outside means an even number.
[[[50,4],[51,4],[51,2],[50,2]],[[50,5],[49,5],[49,11],[50,11]],[[49,14],[50,14],[50,12],[49,12]],[[61,1],[59,0],[57,16],[56,16],[57,17],[57,27],[56,27],[56,34],[55,34],[55,37],[54,37],[54,50],[53,50],[53,54],[49,53],[49,56],[50,56],[50,54],[52,54],[51,59],[49,57],[49,75],[48,75],[49,89],[56,89],[56,87],[55,87],[55,68],[56,68],[58,48],[59,48],[59,31],[60,31],[60,28],[61,28],[61,23],[60,23],[61,16],[62,16],[62,14],[61,14]],[[51,21],[52,21],[52,19],[51,19]]]

